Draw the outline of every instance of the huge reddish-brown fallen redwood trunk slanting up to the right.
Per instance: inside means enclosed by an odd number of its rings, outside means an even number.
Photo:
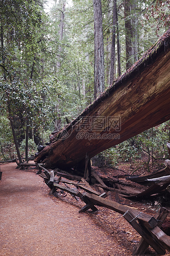
[[[170,119],[170,29],[77,119],[54,133],[35,159],[46,167],[82,166],[89,158]]]

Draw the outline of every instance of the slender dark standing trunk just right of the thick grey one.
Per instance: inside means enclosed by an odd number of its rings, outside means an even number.
[[[112,30],[112,52],[110,62],[110,82],[109,85],[115,80],[115,40],[116,40],[116,0],[113,1],[113,30]]]

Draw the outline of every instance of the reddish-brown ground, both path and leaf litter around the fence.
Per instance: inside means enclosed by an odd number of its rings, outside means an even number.
[[[102,206],[97,206],[96,212],[79,213],[84,203],[66,192],[59,192],[59,198],[49,196],[50,189],[35,174],[36,169],[18,170],[16,163],[0,167],[0,256],[132,255],[141,237],[121,214]],[[123,166],[120,168],[123,170]],[[103,176],[123,173],[106,167],[94,169]],[[93,189],[98,190],[98,187],[93,186]],[[114,192],[111,197],[117,200]],[[162,201],[155,204],[123,197],[119,200],[120,204],[152,216],[158,207],[164,206]],[[157,254],[149,247],[145,255]],[[170,256],[170,252],[165,255]]]

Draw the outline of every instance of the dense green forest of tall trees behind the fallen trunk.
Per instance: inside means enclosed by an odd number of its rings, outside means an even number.
[[[34,154],[170,27],[170,0],[58,0],[48,12],[47,6],[0,0],[0,160]],[[142,159],[149,171],[168,157],[168,141],[169,121],[100,156],[130,168]]]

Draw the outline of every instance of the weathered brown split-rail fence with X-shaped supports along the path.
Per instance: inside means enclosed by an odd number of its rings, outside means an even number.
[[[142,237],[137,247],[133,250],[133,255],[144,255],[149,245],[160,255],[164,255],[166,250],[170,251],[170,236],[166,235],[161,230],[161,225],[169,213],[169,211],[164,207],[159,209],[156,216],[153,217],[147,213],[131,208],[130,206],[121,205],[115,201],[106,199],[105,197],[107,197],[107,194],[105,192],[102,194],[96,192],[84,178],[81,178],[83,183],[80,184],[74,181],[63,180],[63,173],[53,170],[49,172],[46,168],[38,164],[37,169],[37,174],[44,178],[44,182],[51,189],[50,194],[54,194],[54,196],[58,197],[57,190],[59,189],[72,194],[75,199],[80,198],[84,201],[85,205],[79,210],[79,212],[85,212],[88,209],[97,211],[98,209],[95,205],[98,204],[121,213],[128,223],[130,223],[130,225]],[[55,177],[56,175],[58,177]],[[100,179],[96,173],[93,173],[93,177],[94,176],[95,178]],[[79,190],[70,189],[67,184],[66,186],[60,185],[60,182],[75,185],[76,187],[83,189],[85,192],[82,193]]]

